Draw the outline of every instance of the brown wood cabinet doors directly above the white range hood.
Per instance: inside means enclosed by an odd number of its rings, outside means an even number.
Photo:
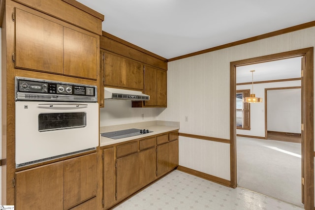
[[[104,86],[143,90],[143,64],[116,54],[104,53]]]

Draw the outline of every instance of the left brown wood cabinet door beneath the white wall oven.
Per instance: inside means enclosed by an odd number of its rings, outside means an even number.
[[[17,210],[63,210],[63,162],[17,172]]]

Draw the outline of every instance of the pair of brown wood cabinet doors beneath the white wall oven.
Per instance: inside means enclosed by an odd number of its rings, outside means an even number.
[[[96,205],[96,153],[16,172],[15,180],[16,210],[91,209]]]

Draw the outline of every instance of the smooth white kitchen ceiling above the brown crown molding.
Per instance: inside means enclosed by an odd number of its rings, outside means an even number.
[[[77,0],[102,30],[166,59],[315,20],[315,0]]]

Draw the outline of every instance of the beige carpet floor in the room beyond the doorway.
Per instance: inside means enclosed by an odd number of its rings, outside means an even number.
[[[237,137],[237,185],[303,207],[301,144]]]

